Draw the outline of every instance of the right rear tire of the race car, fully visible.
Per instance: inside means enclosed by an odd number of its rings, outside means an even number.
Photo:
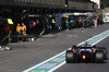
[[[104,61],[105,61],[104,50],[97,50],[95,53],[95,62],[104,63]]]

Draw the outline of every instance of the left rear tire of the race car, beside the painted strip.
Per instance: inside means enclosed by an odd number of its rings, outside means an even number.
[[[65,61],[66,61],[66,63],[74,63],[74,53],[72,50],[66,50]]]

